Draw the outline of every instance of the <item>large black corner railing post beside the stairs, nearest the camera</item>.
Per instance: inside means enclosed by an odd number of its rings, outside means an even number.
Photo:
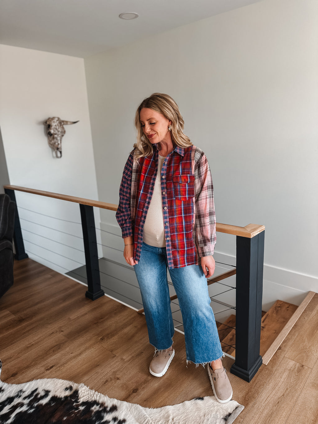
[[[262,365],[259,354],[265,231],[236,237],[235,362],[231,373],[250,382]]]

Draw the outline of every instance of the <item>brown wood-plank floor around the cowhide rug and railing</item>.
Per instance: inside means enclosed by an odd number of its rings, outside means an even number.
[[[184,337],[164,377],[149,374],[153,347],[144,315],[31,259],[15,263],[15,283],[0,299],[1,379],[57,377],[109,397],[160,407],[212,396],[203,367],[186,366]],[[229,370],[234,361],[224,358]],[[318,423],[318,295],[268,365],[247,383],[228,372],[233,399],[245,406],[235,424]]]

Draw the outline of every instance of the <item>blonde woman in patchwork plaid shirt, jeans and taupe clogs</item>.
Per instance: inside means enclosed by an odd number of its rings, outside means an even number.
[[[174,356],[168,267],[183,318],[187,361],[208,363],[216,399],[228,402],[232,388],[206,283],[215,269],[216,241],[209,164],[183,134],[184,120],[170,96],[154,93],[143,100],[135,126],[137,143],[124,168],[116,218],[155,347],[149,371],[162,377]]]

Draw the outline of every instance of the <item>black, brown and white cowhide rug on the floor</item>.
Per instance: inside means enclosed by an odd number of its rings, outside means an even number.
[[[1,367],[0,361],[0,373]],[[209,396],[152,409],[57,378],[0,382],[1,424],[230,424],[243,408],[234,400],[221,404]]]

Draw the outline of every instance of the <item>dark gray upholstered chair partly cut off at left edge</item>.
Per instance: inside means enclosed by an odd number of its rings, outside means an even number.
[[[15,203],[0,194],[0,297],[13,285],[13,231]]]

